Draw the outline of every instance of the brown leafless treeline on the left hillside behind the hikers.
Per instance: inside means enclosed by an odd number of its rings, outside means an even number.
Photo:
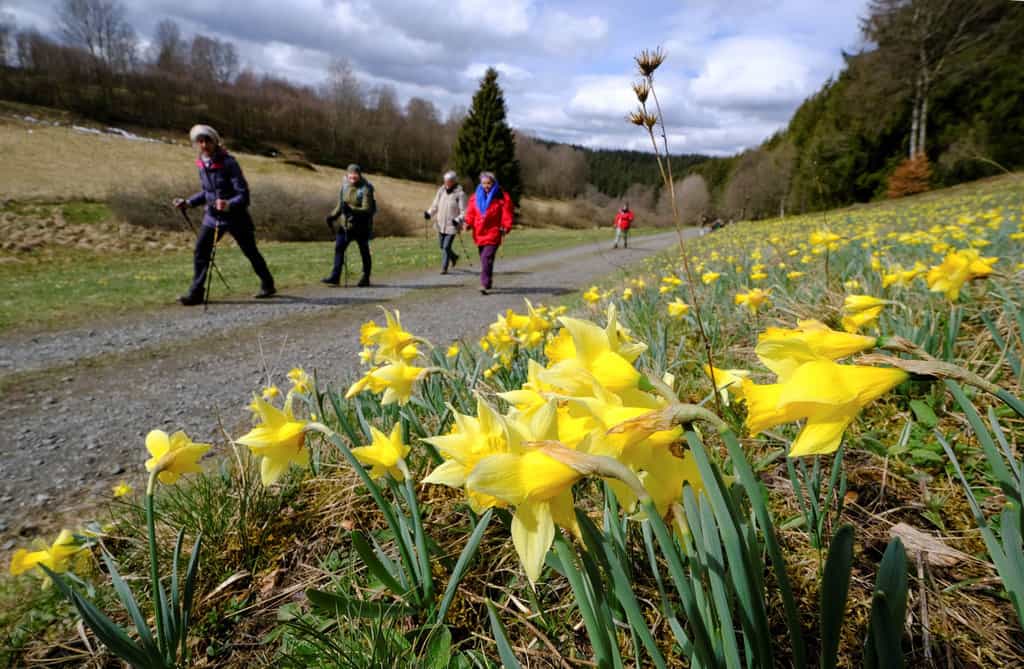
[[[287,147],[315,163],[357,162],[395,177],[433,181],[454,163],[464,109],[442,114],[418,97],[400,104],[392,88],[367,86],[344,59],[331,64],[321,85],[303,86],[244,68],[230,41],[186,38],[170,19],[142,49],[114,0],[62,0],[54,19],[57,30],[47,36],[0,15],[0,97],[110,125],[181,133],[205,122],[238,150]],[[656,200],[656,167],[646,154],[517,134],[516,159],[531,196],[572,199],[597,190],[620,197],[637,182],[650,191],[638,200]]]

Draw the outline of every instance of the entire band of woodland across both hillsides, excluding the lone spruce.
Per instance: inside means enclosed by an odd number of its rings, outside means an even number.
[[[452,163],[465,111],[399,103],[343,59],[318,86],[241,67],[233,44],[185,38],[171,20],[138,47],[116,0],[63,0],[58,30],[18,30],[0,14],[0,98],[112,125],[180,131],[210,123],[234,148],[288,148],[327,165],[434,180]],[[893,172],[929,163],[931,187],[1024,166],[1024,3],[872,0],[867,46],[796,111],[786,128],[728,158],[673,157],[688,222],[759,218],[886,197]],[[624,119],[625,123],[625,119]],[[644,152],[593,151],[517,133],[523,193],[666,213]]]

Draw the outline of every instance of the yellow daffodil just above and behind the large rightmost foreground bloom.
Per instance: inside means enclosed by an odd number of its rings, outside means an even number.
[[[784,383],[798,367],[814,360],[840,360],[873,348],[876,337],[838,332],[820,321],[800,321],[797,328],[768,328],[758,335],[754,352]]]

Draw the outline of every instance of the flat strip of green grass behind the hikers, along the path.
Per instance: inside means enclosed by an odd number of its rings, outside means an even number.
[[[95,217],[88,207],[77,207],[74,211],[79,217]],[[608,229],[517,231],[509,236],[501,257],[607,241],[609,235]],[[464,243],[467,243],[469,254],[475,255],[468,235]],[[334,258],[331,242],[265,242],[259,246],[281,291],[317,285],[321,278],[329,274]],[[433,236],[427,240],[380,239],[373,242],[372,250],[373,279],[378,283],[401,273],[429,269],[439,263]],[[462,254],[458,242],[456,251]],[[350,248],[347,255],[349,279],[354,284],[360,268],[358,251]],[[185,248],[172,252],[113,255],[56,249],[45,256],[34,258],[30,255],[19,262],[0,264],[0,282],[5,287],[0,297],[0,330],[67,326],[88,319],[173,304],[188,287],[191,260],[191,251]],[[212,288],[214,300],[247,297],[259,288],[248,260],[233,244],[218,250],[217,264],[232,290],[226,292],[223,284],[216,281]],[[478,265],[474,263],[474,266]]]

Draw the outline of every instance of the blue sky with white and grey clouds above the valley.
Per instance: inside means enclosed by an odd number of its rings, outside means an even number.
[[[59,0],[0,0],[19,27],[55,32]],[[487,66],[512,125],[589,147],[646,149],[625,122],[633,55],[662,45],[657,72],[674,152],[731,154],[782,127],[860,45],[867,0],[124,0],[145,42],[162,18],[229,39],[244,65],[303,83],[347,58],[368,85],[468,106]]]

